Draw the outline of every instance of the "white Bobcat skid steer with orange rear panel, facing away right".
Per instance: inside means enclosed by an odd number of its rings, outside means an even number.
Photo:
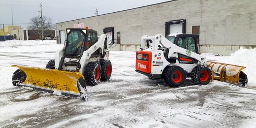
[[[167,38],[161,34],[144,35],[141,50],[136,52],[136,71],[151,79],[163,78],[172,87],[182,86],[186,77],[191,77],[194,84],[207,85],[217,78],[218,72],[211,70],[206,57],[199,55],[198,40],[197,34],[175,34]],[[240,84],[247,83],[244,73],[239,76],[240,71],[235,77],[240,79]]]

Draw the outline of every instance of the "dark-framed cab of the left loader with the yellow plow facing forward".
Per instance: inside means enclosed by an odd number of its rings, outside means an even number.
[[[67,38],[64,44],[64,55],[77,57],[88,50],[97,41],[97,32],[88,29],[66,29]]]

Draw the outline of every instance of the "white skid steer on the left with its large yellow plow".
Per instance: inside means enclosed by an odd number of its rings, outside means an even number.
[[[57,51],[46,69],[13,65],[12,83],[36,91],[87,100],[86,84],[96,86],[111,77],[109,47],[113,28],[105,28],[98,38],[89,29],[66,29],[64,48]]]

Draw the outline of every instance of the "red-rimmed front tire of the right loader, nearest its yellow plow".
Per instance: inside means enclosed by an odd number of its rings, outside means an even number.
[[[191,80],[197,85],[208,85],[212,78],[211,70],[204,65],[195,66],[191,72]]]

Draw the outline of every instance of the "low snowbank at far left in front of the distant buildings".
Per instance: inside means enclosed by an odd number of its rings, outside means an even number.
[[[31,45],[56,44],[56,40],[7,40],[0,42],[0,47],[18,47]]]

